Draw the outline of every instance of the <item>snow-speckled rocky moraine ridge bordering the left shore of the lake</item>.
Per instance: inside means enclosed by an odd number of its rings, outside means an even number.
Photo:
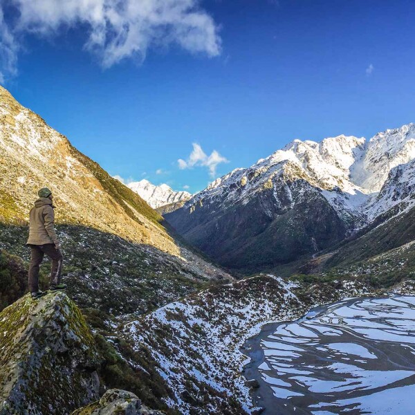
[[[298,289],[273,275],[214,286],[124,325],[123,332],[158,362],[173,391],[169,406],[183,414],[196,407],[214,414],[251,413],[256,408],[241,374],[248,360],[240,349],[247,338],[268,322],[295,320],[314,304],[364,292],[350,282],[302,299]]]

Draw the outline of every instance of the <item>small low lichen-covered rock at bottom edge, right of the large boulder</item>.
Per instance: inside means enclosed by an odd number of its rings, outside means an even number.
[[[163,415],[164,412],[153,411],[144,405],[136,395],[120,389],[109,389],[97,402],[77,409],[72,415]]]

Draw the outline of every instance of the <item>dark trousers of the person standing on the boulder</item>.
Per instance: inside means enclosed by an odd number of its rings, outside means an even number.
[[[52,269],[50,270],[50,285],[59,284],[62,273],[62,254],[55,248],[53,243],[44,245],[29,245],[31,251],[29,266],[29,291],[35,293],[39,291],[39,266],[42,264],[44,255],[52,259]]]

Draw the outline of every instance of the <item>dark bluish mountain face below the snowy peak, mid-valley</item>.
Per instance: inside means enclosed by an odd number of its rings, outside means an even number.
[[[230,205],[221,196],[187,203],[165,218],[219,264],[251,272],[329,248],[347,232],[321,191],[302,179],[278,178]]]

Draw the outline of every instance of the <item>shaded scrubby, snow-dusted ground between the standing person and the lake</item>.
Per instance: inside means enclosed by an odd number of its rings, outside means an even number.
[[[248,358],[241,347],[248,338],[268,322],[296,320],[318,304],[386,290],[349,274],[235,281],[219,268],[204,272],[191,261],[99,231],[64,226],[59,232],[68,294],[93,329],[104,361],[102,382],[167,414],[255,412],[243,377]],[[26,289],[24,239],[22,228],[0,227],[0,306]],[[46,263],[42,284],[47,273]],[[412,280],[399,284],[396,292],[415,292]]]

